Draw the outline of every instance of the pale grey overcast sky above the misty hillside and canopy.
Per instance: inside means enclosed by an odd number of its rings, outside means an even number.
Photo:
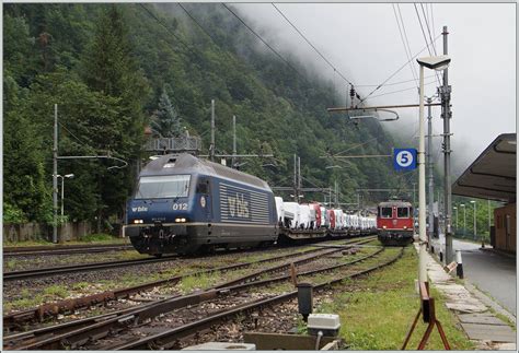
[[[369,94],[408,61],[391,3],[278,3],[279,10],[307,38],[358,86],[361,96]],[[262,35],[281,52],[297,52],[323,78],[333,80],[346,95],[346,83],[334,74],[323,59],[297,34],[270,3],[234,4]],[[399,5],[412,56],[426,46],[413,3]],[[394,8],[396,13],[399,8]],[[422,7],[417,5],[424,31],[429,36]],[[458,175],[503,132],[516,132],[516,4],[436,3],[424,4],[432,38],[443,25],[449,31],[449,84],[452,85],[452,161]],[[432,27],[434,24],[434,27]],[[405,39],[405,38],[404,38]],[[441,36],[436,42],[442,54]],[[434,52],[432,52],[434,54]],[[425,49],[422,56],[428,56]],[[418,74],[418,64],[413,60]],[[426,70],[425,82],[432,82]],[[429,78],[428,78],[429,77]],[[413,80],[406,66],[388,83]],[[415,82],[387,85],[374,92],[369,105],[418,103]],[[415,89],[413,89],[415,87]],[[401,93],[382,95],[411,89]],[[436,84],[425,87],[426,95]],[[344,105],[345,101],[341,105]],[[390,130],[404,131],[410,143],[418,127],[418,109],[400,109],[400,120],[383,122]],[[432,109],[434,133],[442,132],[440,109]],[[438,140],[438,139],[436,139]],[[439,142],[439,141],[437,141]],[[437,143],[436,151],[439,151]],[[441,155],[440,158],[442,160]]]

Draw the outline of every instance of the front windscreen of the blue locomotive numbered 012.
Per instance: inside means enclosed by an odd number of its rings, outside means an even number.
[[[189,193],[191,175],[141,177],[136,199],[182,198]]]

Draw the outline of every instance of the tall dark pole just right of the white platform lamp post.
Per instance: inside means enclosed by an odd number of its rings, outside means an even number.
[[[447,26],[443,26],[443,55],[448,55],[447,49]],[[446,223],[446,263],[450,263],[453,260],[452,251],[452,230],[451,230],[451,214],[452,214],[452,200],[451,200],[451,181],[450,181],[450,119],[452,118],[452,111],[450,110],[450,93],[451,86],[449,85],[449,69],[443,70],[443,86],[440,87],[441,96],[441,118],[443,119],[443,174],[445,174],[445,197],[443,197],[443,210],[445,210],[445,223]]]

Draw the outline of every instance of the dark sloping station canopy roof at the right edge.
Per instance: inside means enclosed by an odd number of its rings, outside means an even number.
[[[516,133],[499,134],[452,185],[452,195],[516,202]]]

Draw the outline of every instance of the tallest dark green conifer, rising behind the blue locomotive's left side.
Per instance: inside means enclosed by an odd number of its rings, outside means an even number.
[[[126,160],[131,167],[132,161],[139,158],[142,145],[143,103],[149,87],[132,57],[124,12],[119,5],[109,4],[103,9],[83,60],[83,78],[92,90],[118,99],[120,108],[117,116],[112,117],[117,119],[119,130],[93,148]],[[106,119],[100,119],[99,122],[114,126],[113,121]],[[113,210],[123,214],[134,175],[128,170],[105,169],[99,174],[99,179],[102,202],[97,221],[101,228],[102,219]]]

